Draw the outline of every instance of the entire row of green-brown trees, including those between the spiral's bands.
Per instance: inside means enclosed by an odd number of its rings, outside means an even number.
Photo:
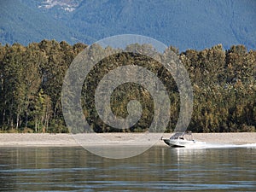
[[[84,44],[69,45],[55,40],[22,46],[0,46],[0,131],[16,132],[67,132],[61,109],[61,88],[67,68]],[[109,48],[108,48],[109,49]],[[189,72],[194,90],[194,111],[189,124],[190,131],[255,131],[256,126],[256,51],[247,51],[243,45],[224,51],[222,45],[201,51],[187,50],[178,53]],[[173,131],[178,118],[179,96],[171,74],[154,60],[138,55],[120,54],[107,58],[87,77],[84,91],[92,98],[97,75],[102,77],[112,67],[122,63],[143,67],[157,73],[168,86],[172,101],[171,122],[166,131]],[[109,62],[111,61],[111,62]],[[112,63],[113,66],[108,64]],[[119,63],[119,64],[115,64]],[[141,64],[138,64],[141,63]],[[169,83],[167,83],[169,82]],[[86,91],[89,89],[90,91]],[[113,113],[125,117],[125,106],[131,99],[143,104],[143,118],[131,129],[143,131],[152,116],[152,98],[147,90],[137,84],[128,84],[128,92],[121,86],[113,93]],[[91,102],[86,101],[84,113],[94,131],[120,131],[104,125],[96,115]],[[121,108],[121,110],[120,110]]]

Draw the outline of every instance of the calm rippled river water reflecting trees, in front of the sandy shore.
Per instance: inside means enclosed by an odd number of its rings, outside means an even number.
[[[122,160],[84,148],[0,148],[1,191],[255,191],[256,148],[154,147]]]

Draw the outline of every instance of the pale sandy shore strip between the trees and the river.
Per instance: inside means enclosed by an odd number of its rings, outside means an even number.
[[[134,138],[143,138],[142,133],[104,133],[96,134],[98,139],[94,139],[95,134],[83,134],[84,140],[90,145],[102,144],[102,141],[113,143],[123,143],[132,141]],[[162,134],[160,134],[162,135]],[[165,133],[163,137],[168,138],[172,133]],[[160,137],[160,136],[159,136]],[[207,143],[256,143],[256,132],[248,133],[194,133],[195,140]],[[158,138],[158,136],[157,136]],[[166,146],[163,141],[155,143],[157,146]],[[71,134],[21,134],[21,133],[3,133],[0,134],[0,147],[26,147],[26,146],[80,146],[77,140]]]

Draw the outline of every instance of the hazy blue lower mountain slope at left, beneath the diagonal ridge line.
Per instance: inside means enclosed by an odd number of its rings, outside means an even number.
[[[19,0],[4,0],[0,6],[0,42],[2,44],[29,44],[44,38],[66,40],[73,44],[78,38],[91,41],[86,35],[81,35],[73,29],[54,20],[49,15],[42,14],[38,9],[32,9]]]

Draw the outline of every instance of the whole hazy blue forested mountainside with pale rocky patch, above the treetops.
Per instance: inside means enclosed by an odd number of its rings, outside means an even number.
[[[256,48],[256,1],[2,0],[0,42],[43,38],[69,44],[122,33],[145,35],[180,50],[223,44]]]

